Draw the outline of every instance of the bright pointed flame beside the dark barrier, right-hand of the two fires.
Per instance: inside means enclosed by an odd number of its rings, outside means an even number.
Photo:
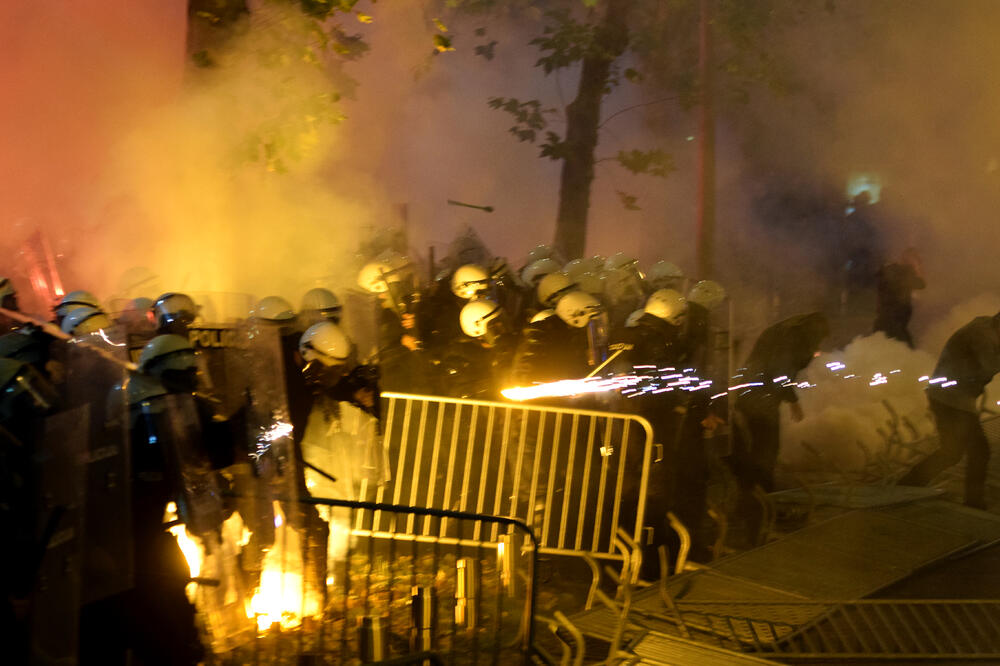
[[[274,525],[274,545],[264,557],[260,585],[247,605],[247,617],[256,619],[261,632],[275,624],[292,629],[303,617],[320,612],[320,591],[303,579],[300,536],[285,520],[278,502],[274,502]]]

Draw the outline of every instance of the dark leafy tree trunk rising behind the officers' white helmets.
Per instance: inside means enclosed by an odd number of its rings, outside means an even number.
[[[601,101],[608,93],[611,65],[628,46],[625,21],[631,4],[632,0],[608,2],[598,26],[595,48],[583,59],[576,99],[566,107],[566,156],[559,182],[559,213],[553,243],[566,259],[582,257],[587,245],[587,214]]]

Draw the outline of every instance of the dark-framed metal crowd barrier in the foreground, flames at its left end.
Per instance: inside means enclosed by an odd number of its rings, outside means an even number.
[[[295,542],[276,571],[266,564],[256,577],[244,571],[245,579],[259,582],[258,594],[269,576],[283,583],[266,599],[249,601],[248,621],[256,619],[256,627],[235,648],[215,651],[213,663],[529,662],[537,543],[522,522],[336,499],[306,498],[299,508],[306,505],[330,526],[321,600],[308,598],[312,565],[302,564],[309,561],[304,541]],[[414,532],[407,527],[414,520],[448,536]],[[495,541],[476,536],[491,532]],[[276,537],[272,550],[287,539]]]

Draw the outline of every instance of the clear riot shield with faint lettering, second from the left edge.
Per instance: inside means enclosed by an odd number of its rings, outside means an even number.
[[[127,351],[113,338],[66,345],[65,396],[88,415],[83,453],[82,603],[132,587],[131,470],[129,469]],[[98,353],[100,350],[101,353]],[[117,359],[117,362],[116,362]]]

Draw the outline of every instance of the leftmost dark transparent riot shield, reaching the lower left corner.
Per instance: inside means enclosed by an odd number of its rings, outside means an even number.
[[[84,485],[90,435],[86,406],[45,419],[35,442],[34,548],[23,572],[32,591],[30,662],[74,663],[79,642]]]

